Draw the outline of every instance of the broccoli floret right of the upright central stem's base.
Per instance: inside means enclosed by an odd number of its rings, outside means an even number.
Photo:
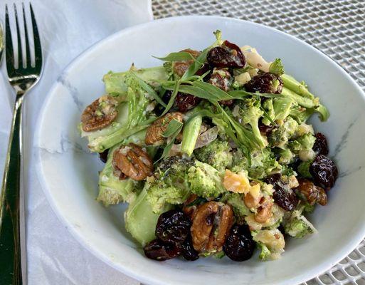
[[[213,140],[205,147],[195,150],[194,154],[197,160],[208,163],[218,171],[224,171],[232,165],[231,147],[226,141]]]

